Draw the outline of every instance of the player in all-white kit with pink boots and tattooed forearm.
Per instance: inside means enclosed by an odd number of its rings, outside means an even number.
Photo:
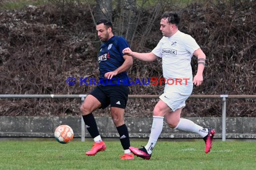
[[[206,56],[194,38],[178,30],[179,22],[180,17],[177,13],[165,12],[160,21],[160,31],[163,38],[153,51],[137,53],[130,48],[123,50],[124,54],[142,61],[154,61],[158,57],[162,58],[163,77],[166,81],[164,92],[154,107],[150,138],[146,146],[141,149],[129,148],[133,154],[147,160],[150,159],[154,145],[162,132],[164,117],[169,127],[194,132],[202,136],[206,144],[205,153],[210,152],[212,147],[214,129],[204,128],[189,119],[181,118],[181,110],[185,106],[186,99],[192,93],[193,83],[198,86],[203,82]],[[194,80],[190,65],[193,55],[198,58],[198,70]]]

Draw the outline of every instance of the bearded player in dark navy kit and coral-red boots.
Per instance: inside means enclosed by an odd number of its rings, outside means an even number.
[[[129,91],[126,70],[132,66],[132,57],[124,55],[122,51],[129,47],[128,42],[123,37],[114,36],[112,27],[110,21],[102,19],[97,22],[98,37],[103,42],[98,54],[100,85],[85,98],[80,110],[86,128],[94,140],[93,148],[85,154],[95,155],[106,149],[92,112],[100,108],[105,109],[110,105],[111,116],[124,148],[121,160],[127,160],[134,159],[129,149],[128,129],[124,123],[124,109]]]

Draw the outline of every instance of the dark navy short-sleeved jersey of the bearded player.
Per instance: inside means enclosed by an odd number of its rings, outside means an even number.
[[[124,63],[124,48],[129,47],[128,42],[119,36],[113,36],[106,43],[102,43],[98,54],[100,84],[101,85],[124,85],[129,77],[127,72],[121,72],[113,76],[111,80],[105,78],[106,72],[113,72]],[[102,83],[101,83],[102,82]]]

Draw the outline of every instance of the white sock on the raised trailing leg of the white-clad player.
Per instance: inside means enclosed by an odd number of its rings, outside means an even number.
[[[197,133],[202,137],[204,137],[208,134],[208,129],[207,128],[203,128],[203,127],[195,124],[191,120],[183,119],[183,118],[180,119],[180,122],[178,123],[177,127],[175,127],[174,129],[179,129],[179,130],[182,130],[182,131]]]

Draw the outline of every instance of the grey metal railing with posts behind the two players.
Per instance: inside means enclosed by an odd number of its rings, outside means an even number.
[[[87,94],[0,94],[0,98],[80,98],[84,101]],[[160,95],[128,95],[128,98],[159,98]],[[189,98],[222,99],[222,141],[226,140],[226,99],[256,98],[256,95],[191,95]],[[81,141],[85,141],[85,124],[81,116]]]

